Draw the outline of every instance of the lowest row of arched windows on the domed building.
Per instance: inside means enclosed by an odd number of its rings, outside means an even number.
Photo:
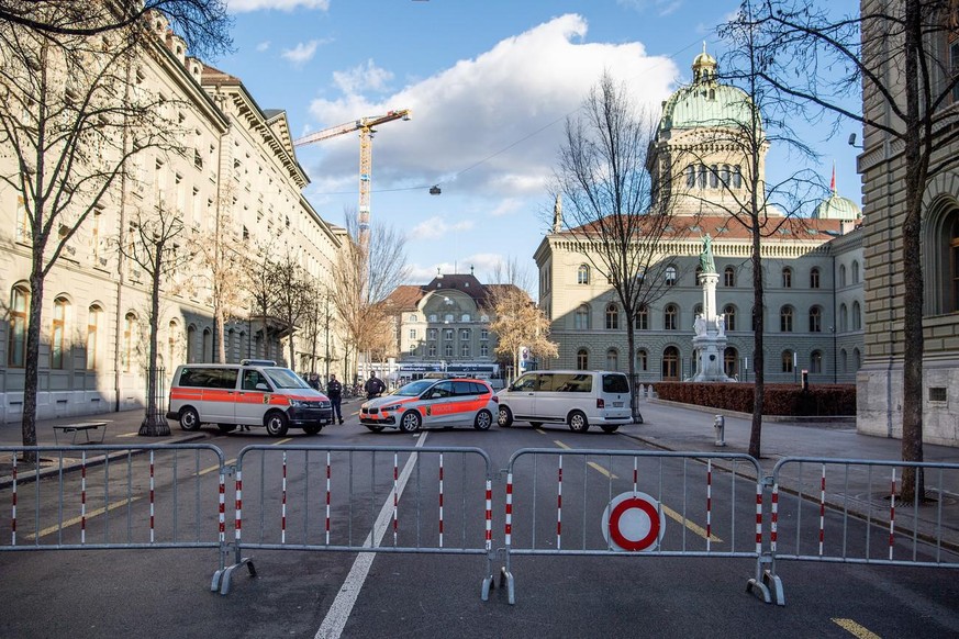
[[[679,348],[677,348],[676,346],[667,346],[662,350],[660,363],[660,372],[662,374],[662,379],[680,379]],[[796,372],[796,367],[799,367],[800,365],[799,356],[794,350],[783,350],[780,354],[779,363],[780,372]],[[859,370],[861,363],[862,355],[858,348],[852,349],[851,356],[845,348],[839,350],[837,361],[838,372],[841,372],[844,374],[856,372]],[[723,369],[726,375],[731,378],[737,378],[740,373],[739,367],[739,352],[733,347],[726,348],[723,352]],[[580,348],[576,351],[576,368],[577,370],[592,370],[592,367],[590,366],[589,349]],[[617,349],[610,348],[606,350],[605,370],[620,370],[620,351]],[[649,370],[649,352],[645,348],[639,348],[636,350],[636,370],[638,372],[647,372]],[[823,370],[823,352],[821,350],[813,350],[812,352],[810,352],[809,356],[809,372],[822,373]]]

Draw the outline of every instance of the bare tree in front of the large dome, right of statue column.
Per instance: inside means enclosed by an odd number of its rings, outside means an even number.
[[[760,64],[754,30],[738,18],[720,29],[729,44],[724,64],[705,52],[698,58],[693,90],[712,90],[726,104],[726,111],[714,121],[703,121],[701,127],[688,132],[689,139],[678,147],[673,166],[684,171],[674,179],[709,181],[717,189],[688,189],[682,198],[698,200],[703,208],[732,217],[749,233],[752,271],[752,362],[754,401],[749,433],[749,455],[761,453],[762,412],[766,396],[765,317],[762,244],[788,227],[791,237],[802,237],[805,222],[800,217],[812,202],[825,192],[816,175],[807,169],[788,172],[770,181],[766,175],[766,154],[773,145],[787,153],[791,164],[802,164],[815,157],[789,125],[795,110],[778,98],[776,91],[756,74]],[[722,149],[718,152],[716,149]],[[720,168],[722,167],[722,168]],[[729,167],[733,167],[732,169]]]

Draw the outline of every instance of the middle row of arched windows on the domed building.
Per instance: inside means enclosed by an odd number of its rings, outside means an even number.
[[[693,315],[702,313],[702,304],[696,304],[693,307]],[[723,309],[725,317],[726,330],[741,330],[748,327],[738,327],[738,312],[733,304],[726,304]],[[577,330],[589,330],[591,310],[589,304],[580,304],[573,313],[573,328]],[[605,311],[605,329],[618,330],[625,328],[625,324],[621,326],[620,306],[613,302],[606,305]],[[848,329],[849,312],[846,304],[839,306],[839,330]],[[633,326],[637,330],[649,330],[649,309],[642,307],[633,321]],[[862,328],[862,307],[859,302],[852,302],[852,330]],[[679,306],[676,304],[667,304],[662,310],[662,329],[679,330]],[[779,330],[781,333],[793,333],[795,330],[795,310],[785,305],[779,310]],[[809,332],[823,332],[823,309],[822,306],[812,306],[809,311]]]

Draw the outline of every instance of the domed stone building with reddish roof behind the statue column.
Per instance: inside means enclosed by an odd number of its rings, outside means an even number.
[[[662,278],[659,294],[633,317],[633,352],[642,383],[685,380],[696,372],[692,337],[703,304],[699,256],[706,234],[712,237],[720,276],[716,303],[725,314],[723,369],[739,380],[755,374],[751,235],[727,213],[740,201],[749,162],[729,150],[735,145],[711,142],[712,135],[729,135],[724,123],[748,119],[748,100],[716,80],[715,64],[707,54],[696,56],[693,82],[665,102],[650,147],[647,166],[658,184],[673,189],[676,216],[669,222],[673,235],[661,242],[661,256],[637,276],[658,272]],[[539,281],[546,283],[539,290],[539,305],[551,322],[550,339],[559,345],[559,357],[548,366],[582,368],[584,354],[593,354],[590,368],[609,366],[613,360],[603,361],[603,354],[629,352],[625,310],[603,272],[602,258],[580,253],[590,246],[582,242],[589,227],[564,227],[557,223],[561,213],[557,208],[553,231],[534,254]],[[861,234],[856,229],[860,221],[859,208],[835,190],[805,218],[771,220],[778,229],[761,240],[765,311],[756,318],[766,330],[767,381],[792,383],[802,370],[810,372],[813,383],[856,381],[852,354],[863,348],[863,334],[851,317],[843,327],[838,309],[845,304],[848,314],[863,303],[861,282],[847,278],[839,283],[841,272],[855,273],[862,262]],[[590,265],[586,281],[584,264]],[[621,314],[617,324],[611,316],[613,307]],[[845,367],[839,365],[841,350],[847,354]],[[784,352],[789,352],[788,366]],[[625,357],[615,363],[627,370]]]

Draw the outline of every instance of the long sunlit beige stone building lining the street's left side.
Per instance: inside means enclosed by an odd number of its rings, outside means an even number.
[[[264,111],[242,81],[189,57],[166,19],[153,13],[155,40],[133,69],[134,90],[168,99],[188,132],[182,153],[143,150],[114,182],[104,205],[70,238],[45,281],[37,417],[126,410],[143,404],[149,281],[118,250],[131,242],[137,212],[174,208],[185,232],[178,243],[219,243],[250,257],[290,250],[323,281],[332,272],[342,229],[303,198],[309,183],[297,161],[282,111]],[[5,108],[0,105],[0,108]],[[11,154],[0,170],[15,173]],[[31,290],[31,237],[19,194],[0,187],[0,423],[21,417],[25,330]],[[214,361],[212,280],[196,264],[161,287],[158,365],[167,378],[183,362]],[[227,361],[285,361],[289,327],[236,309],[224,330]],[[304,352],[305,345],[298,344]],[[294,362],[300,363],[300,362]],[[338,369],[336,369],[338,372]]]

